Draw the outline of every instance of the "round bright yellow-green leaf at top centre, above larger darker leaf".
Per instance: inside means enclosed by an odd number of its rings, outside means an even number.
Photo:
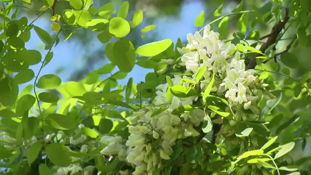
[[[121,17],[114,17],[109,23],[109,32],[118,38],[125,37],[130,31],[128,22]]]

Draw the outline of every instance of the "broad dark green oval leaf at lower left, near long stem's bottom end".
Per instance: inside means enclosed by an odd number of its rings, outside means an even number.
[[[72,163],[68,148],[60,143],[51,143],[47,145],[46,152],[50,161],[57,166],[66,167]]]

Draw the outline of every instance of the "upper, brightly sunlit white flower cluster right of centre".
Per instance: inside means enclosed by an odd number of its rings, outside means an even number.
[[[240,52],[236,51],[235,45],[226,44],[219,40],[219,33],[210,31],[210,26],[205,26],[203,36],[199,32],[187,35],[188,44],[179,49],[182,55],[181,65],[185,65],[187,71],[194,73],[198,69],[207,67],[201,88],[208,85],[212,73],[217,75],[212,91],[224,95],[232,106],[243,105],[245,110],[258,113],[256,107],[257,88],[260,84],[258,76],[254,76],[254,70],[245,70],[245,62],[240,59]],[[217,82],[218,81],[218,82]]]

